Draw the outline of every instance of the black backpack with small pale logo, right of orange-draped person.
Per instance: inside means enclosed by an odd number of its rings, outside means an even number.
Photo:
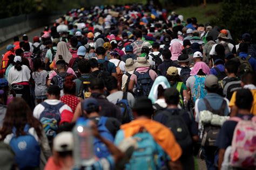
[[[167,120],[164,125],[171,129],[177,142],[182,148],[183,155],[186,154],[186,151],[189,151],[192,146],[192,137],[182,115],[188,114],[190,119],[192,119],[190,113],[183,110],[165,110],[164,114],[167,116]]]

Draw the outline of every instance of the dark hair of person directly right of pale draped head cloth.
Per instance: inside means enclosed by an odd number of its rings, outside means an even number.
[[[179,104],[179,91],[176,88],[168,88],[164,92],[165,102],[167,104]]]

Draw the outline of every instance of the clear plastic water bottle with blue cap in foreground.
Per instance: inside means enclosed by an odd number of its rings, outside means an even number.
[[[79,118],[73,128],[74,144],[73,158],[75,168],[90,167],[95,162],[95,152],[93,148],[93,134],[90,121]]]

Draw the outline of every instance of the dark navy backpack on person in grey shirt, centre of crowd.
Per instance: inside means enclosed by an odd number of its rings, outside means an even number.
[[[123,92],[122,100],[118,100],[116,105],[121,109],[122,124],[129,123],[133,120],[132,110],[127,100],[127,92]]]

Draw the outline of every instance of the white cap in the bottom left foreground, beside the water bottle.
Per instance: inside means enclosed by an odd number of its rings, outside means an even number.
[[[61,132],[53,139],[53,150],[57,152],[72,151],[74,147],[72,132]]]

